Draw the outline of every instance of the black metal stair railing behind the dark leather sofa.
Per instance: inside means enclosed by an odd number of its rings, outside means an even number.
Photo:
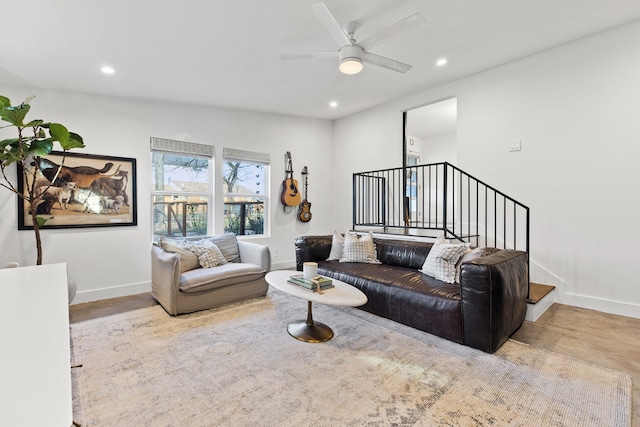
[[[353,228],[359,227],[441,231],[473,246],[529,254],[529,208],[447,162],[354,173]]]

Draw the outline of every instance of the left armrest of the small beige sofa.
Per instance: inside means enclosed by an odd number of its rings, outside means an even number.
[[[169,314],[177,314],[176,295],[180,292],[180,258],[151,246],[151,294]]]

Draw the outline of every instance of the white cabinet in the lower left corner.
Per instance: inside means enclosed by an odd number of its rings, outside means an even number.
[[[0,426],[73,420],[67,265],[0,270]]]

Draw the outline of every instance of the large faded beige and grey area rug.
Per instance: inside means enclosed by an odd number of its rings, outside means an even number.
[[[113,426],[628,426],[627,374],[513,340],[486,354],[354,308],[314,305],[322,344],[288,335],[278,291],[171,317],[71,325],[74,419]]]

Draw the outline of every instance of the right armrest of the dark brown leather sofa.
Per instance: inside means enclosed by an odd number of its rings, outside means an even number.
[[[460,299],[466,345],[495,352],[524,322],[529,264],[526,252],[499,250],[463,263]]]

